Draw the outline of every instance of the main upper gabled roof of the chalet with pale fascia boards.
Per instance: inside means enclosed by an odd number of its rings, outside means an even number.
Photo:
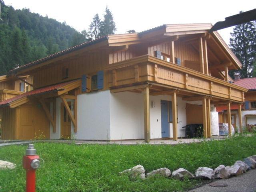
[[[19,68],[14,68],[10,70],[8,74],[13,74],[18,71],[21,71],[26,68],[30,68],[32,66],[46,63],[46,62],[53,62],[55,58],[60,59],[60,57],[64,57],[64,55],[67,57],[69,53],[71,52],[78,52],[78,50],[83,48],[89,48],[93,46],[122,46],[122,45],[129,45],[129,44],[138,44],[142,43],[143,40],[150,40],[150,38],[154,38],[155,35],[162,36],[164,38],[168,38],[170,36],[182,36],[182,35],[188,35],[188,34],[200,34],[200,33],[206,33],[210,30],[212,27],[211,23],[203,23],[203,24],[164,24],[162,26],[158,26],[156,28],[152,28],[140,33],[131,33],[131,34],[114,34],[114,35],[107,35],[100,37],[96,40],[92,40],[89,42],[84,42],[82,44],[79,44],[77,46],[68,48],[66,50],[57,52],[55,54],[49,55],[45,58],[41,58],[39,60],[36,60],[34,62],[30,62],[28,64],[25,64],[23,66],[20,66]],[[213,32],[211,35],[214,37],[216,42],[218,42],[219,46],[224,50],[226,55],[230,58],[232,63],[236,66],[236,68],[240,68],[242,64],[240,61],[236,58],[234,53],[230,50],[228,45],[224,42],[224,40],[220,37],[218,32]],[[101,43],[102,42],[102,43]]]

